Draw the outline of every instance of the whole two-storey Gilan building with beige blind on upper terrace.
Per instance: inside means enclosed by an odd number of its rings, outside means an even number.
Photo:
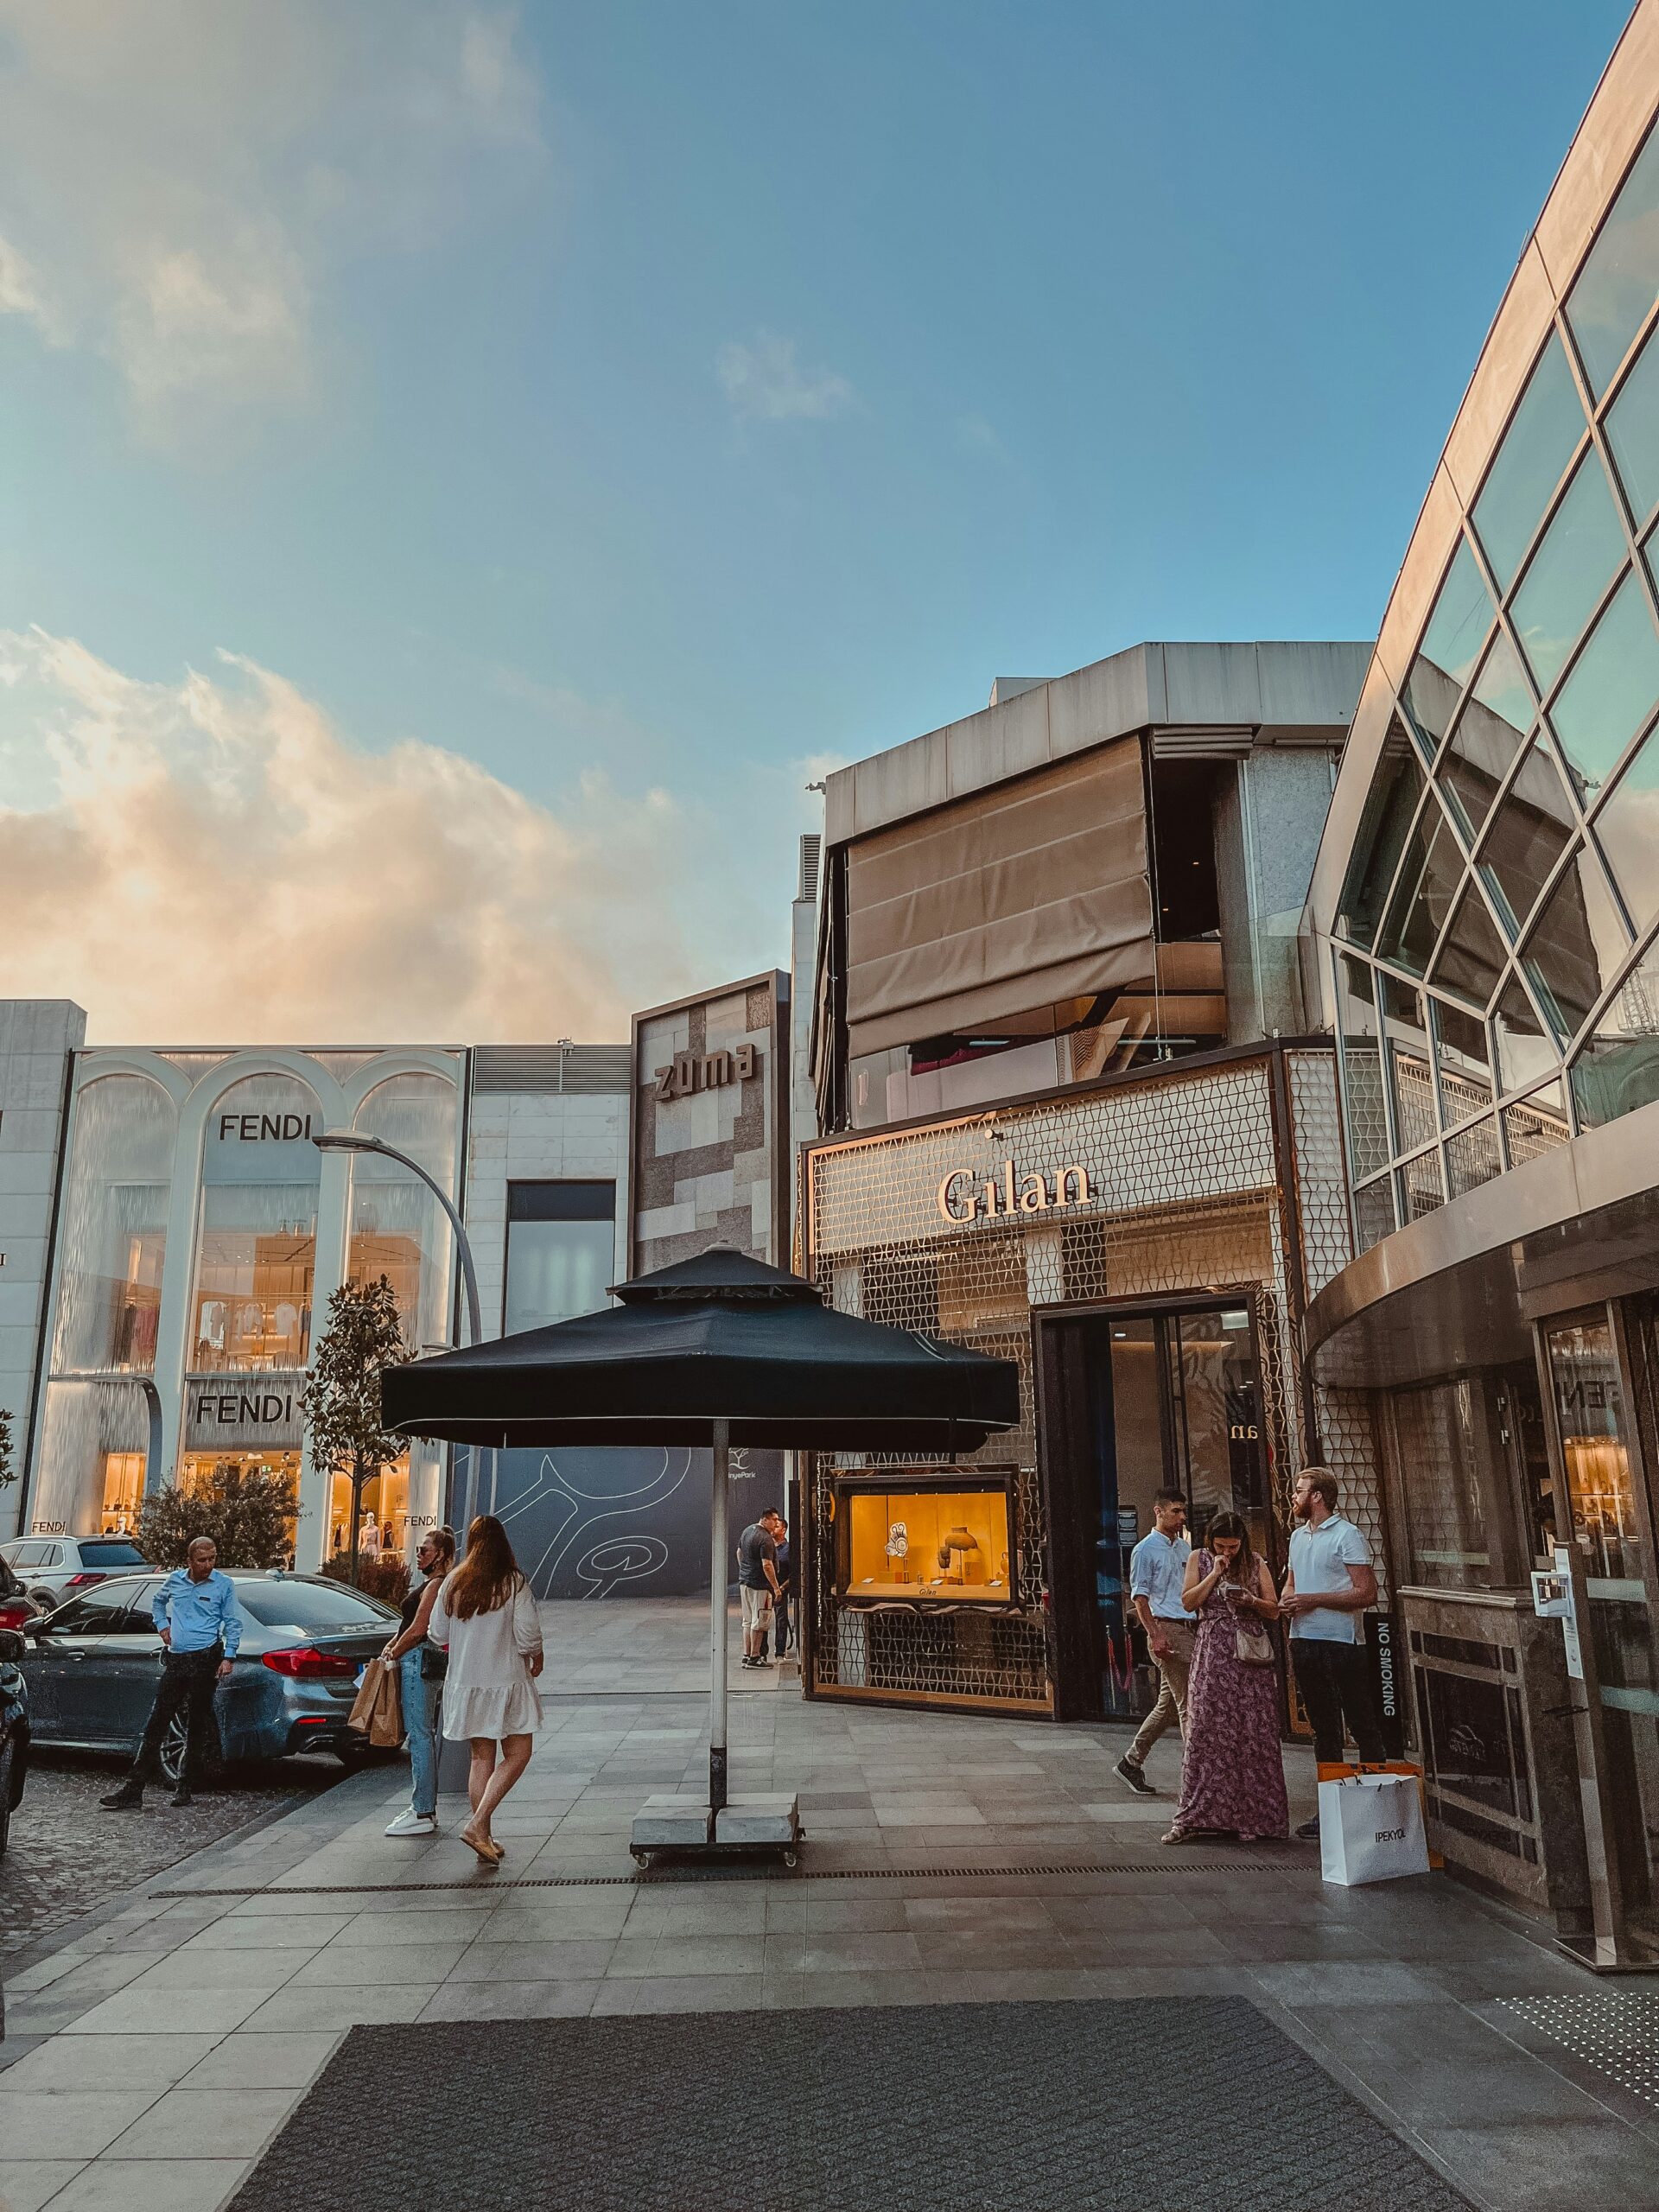
[[[1265,916],[1298,909],[1358,681],[1303,650],[1137,648],[832,779],[841,1126],[801,1155],[801,1265],[843,1312],[1018,1360],[1022,1420],[949,1467],[805,1460],[810,1697],[1146,1710],[1126,1571],[1164,1486],[1281,1564],[1323,1458],[1383,1553],[1365,1407],[1301,1360],[1352,1245],[1332,1046]],[[1239,834],[1250,803],[1274,841]]]

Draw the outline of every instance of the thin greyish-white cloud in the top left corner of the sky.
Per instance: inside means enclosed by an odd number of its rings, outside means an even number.
[[[0,0],[0,312],[146,429],[292,400],[347,270],[542,164],[515,18],[451,0]]]

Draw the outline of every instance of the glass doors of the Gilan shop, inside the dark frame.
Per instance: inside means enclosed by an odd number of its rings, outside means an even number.
[[[1223,1509],[1243,1513],[1252,1544],[1276,1564],[1261,1378],[1243,1305],[1097,1314],[1082,1327],[1093,1385],[1102,1701],[1110,1717],[1130,1719],[1157,1697],[1128,1604],[1130,1553],[1152,1528],[1157,1493],[1186,1498],[1194,1542]]]

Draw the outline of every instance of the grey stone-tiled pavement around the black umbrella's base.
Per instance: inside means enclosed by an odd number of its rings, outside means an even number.
[[[438,1838],[387,1840],[407,1781],[367,1772],[20,1953],[0,2044],[11,2212],[212,2212],[365,2024],[732,2013],[785,2033],[783,2015],[841,2008],[1093,2000],[1126,2017],[1157,2000],[1175,2026],[1221,1997],[1248,2000],[1475,2205],[1577,2208],[1593,2181],[1621,2212],[1659,2212],[1652,2106],[1502,2002],[1595,1984],[1453,1880],[1343,1891],[1312,1849],[1159,1851],[1170,1741],[1146,1805],[1110,1772],[1124,1730],[787,1688],[734,1699],[732,1765],[737,1787],[801,1792],[801,1871],[637,1880],[628,1820],[706,1772],[706,1703],[639,1688],[628,1652],[648,1681],[684,1683],[703,1615],[584,1604],[549,1608],[549,1628],[546,1730],[498,1825],[500,1871],[456,1840],[453,1798]],[[1312,1763],[1287,1752],[1285,1772],[1301,1812]],[[400,2039],[398,2110],[420,2088],[422,2039]],[[1157,2046],[1133,2064],[1146,2097],[1168,2095]],[[1294,2081],[1323,2090],[1323,2075]],[[984,2097],[967,2068],[949,2088]],[[1183,2126],[1206,2088],[1179,2084]],[[1270,2101],[1250,2139],[1263,2154],[1276,2115]],[[1093,2126],[1086,2108],[1071,2117]],[[706,2201],[701,2181],[686,2174],[686,2205]],[[958,2183],[947,2166],[918,2201],[958,2205]]]

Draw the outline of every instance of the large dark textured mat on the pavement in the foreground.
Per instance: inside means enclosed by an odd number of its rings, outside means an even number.
[[[1464,2212],[1245,1997],[354,2028],[232,2212]]]

